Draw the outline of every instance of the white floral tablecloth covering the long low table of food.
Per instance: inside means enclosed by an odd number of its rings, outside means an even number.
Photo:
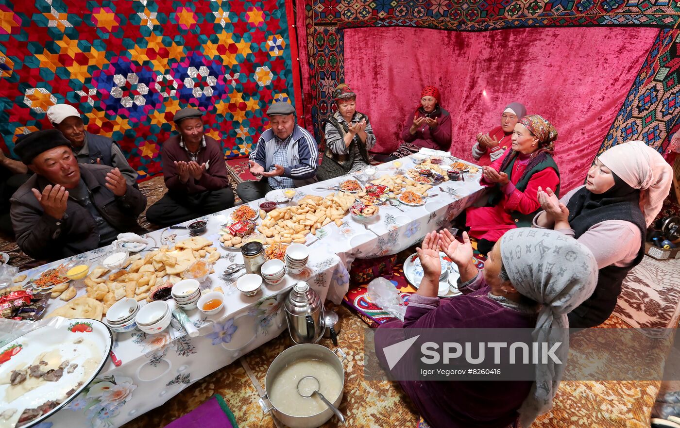
[[[403,163],[401,171],[413,167],[410,158],[403,158],[400,162]],[[394,167],[393,162],[383,164],[378,167],[375,178],[401,171]],[[226,282],[220,274],[229,264],[243,260],[239,250],[224,249],[219,245],[218,231],[232,209],[203,217],[208,222],[203,236],[213,240],[222,254],[214,266],[215,273],[209,277],[211,289],[218,285],[224,289],[226,299],[221,312],[205,316],[198,309],[186,311],[199,329],[200,336],[194,338],[186,335],[181,327],[171,327],[169,331],[154,335],[137,330],[117,334],[113,351],[122,364],[116,367],[109,359],[90,387],[47,421],[55,428],[120,427],[164,404],[192,382],[231,364],[241,355],[281,334],[286,328],[282,302],[294,283],[307,281],[322,300],[339,304],[347,293],[350,267],[356,258],[398,253],[417,243],[428,232],[442,228],[479,196],[482,190],[480,177],[481,172],[468,173],[465,181],[445,181],[441,187],[456,190],[458,196],[442,192],[437,185],[429,194],[439,196],[428,199],[421,207],[402,204],[399,207],[404,212],[390,205],[381,206],[379,217],[369,225],[359,224],[347,215],[340,227],[333,222],[324,226],[318,231],[320,239],[310,246],[307,269],[294,277],[286,275],[285,281],[278,285],[263,284],[262,291],[253,298],[243,296],[235,283]],[[294,201],[305,194],[326,196],[331,191],[320,188],[328,188],[343,179],[347,177],[299,188]],[[251,202],[250,206],[256,208],[260,202]],[[168,229],[156,230],[147,236],[163,245],[176,232],[180,233],[174,237],[175,241],[188,236],[187,232]],[[31,277],[51,266],[78,258],[89,260],[105,251],[108,249],[96,249],[24,273]],[[81,289],[78,294],[84,294],[84,290]],[[61,300],[50,300],[48,312],[62,304],[65,303]],[[236,331],[231,335],[225,334],[227,330],[232,331],[230,327],[233,326],[237,327]],[[101,399],[104,393],[107,398]]]

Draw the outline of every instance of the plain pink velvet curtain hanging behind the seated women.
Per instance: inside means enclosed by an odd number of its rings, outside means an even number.
[[[347,29],[345,80],[369,115],[376,151],[398,146],[426,85],[441,91],[452,115],[451,152],[467,160],[475,135],[497,126],[505,105],[523,103],[558,129],[564,193],[583,183],[658,31]]]

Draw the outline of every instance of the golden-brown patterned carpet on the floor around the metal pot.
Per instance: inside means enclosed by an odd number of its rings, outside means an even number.
[[[415,291],[403,279],[403,254],[398,264],[392,268],[391,281],[403,296]],[[349,357],[345,364],[345,398],[341,410],[347,416],[350,427],[413,427],[427,428],[428,425],[415,413],[409,399],[398,385],[390,382],[367,381],[363,376],[364,340],[362,330],[366,325],[377,325],[388,319],[388,316],[371,310],[358,311],[352,303],[364,302],[371,305],[367,296],[360,296],[369,281],[354,284],[347,298],[337,309],[341,319],[340,346]],[[352,298],[358,298],[354,300]],[[677,318],[676,318],[677,322]],[[675,325],[673,325],[675,326]],[[631,325],[617,315],[612,315],[601,328],[630,328]],[[638,334],[631,330],[631,334]],[[642,341],[641,341],[642,342]],[[611,352],[615,355],[641,355],[636,352],[633,337],[631,342],[611,344]],[[322,344],[331,346],[328,340]],[[613,369],[611,361],[598,359],[596,347],[588,352],[592,343],[587,337],[573,336],[572,348],[585,349],[577,359],[572,357],[574,369],[588,372],[608,373]],[[641,357],[641,363],[649,370],[660,370],[664,363],[664,355],[670,342]],[[267,368],[273,359],[290,346],[290,340],[284,332],[278,338],[245,355],[245,360],[254,371],[260,384],[264,385]],[[600,344],[598,344],[600,346]],[[565,381],[554,400],[553,409],[534,422],[532,428],[643,428],[649,427],[651,409],[661,387],[658,381]],[[164,406],[151,410],[124,425],[124,428],[162,427],[175,418],[190,412],[214,393],[220,393],[234,411],[241,427],[275,427],[269,414],[263,414],[258,405],[258,394],[248,379],[245,370],[239,363],[233,363],[187,387],[182,393],[173,397]],[[329,421],[324,428],[337,427],[335,419]]]

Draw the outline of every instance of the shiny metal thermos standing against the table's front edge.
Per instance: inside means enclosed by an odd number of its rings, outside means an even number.
[[[296,344],[316,343],[324,334],[324,306],[305,281],[297,283],[284,302],[290,338]]]

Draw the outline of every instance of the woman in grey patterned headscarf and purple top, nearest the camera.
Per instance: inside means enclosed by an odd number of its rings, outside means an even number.
[[[533,328],[534,341],[547,342],[548,349],[562,342],[555,352],[562,364],[537,364],[535,382],[400,382],[432,427],[505,428],[519,420],[528,428],[552,406],[568,353],[566,314],[594,290],[595,257],[554,230],[515,229],[498,240],[479,274],[466,233],[463,240],[448,231],[426,236],[418,249],[424,270],[418,293],[409,298],[403,323],[390,320],[380,329]],[[458,265],[463,296],[437,297],[440,249]],[[384,337],[376,334],[377,350],[384,349]],[[384,353],[377,355],[385,365]]]

